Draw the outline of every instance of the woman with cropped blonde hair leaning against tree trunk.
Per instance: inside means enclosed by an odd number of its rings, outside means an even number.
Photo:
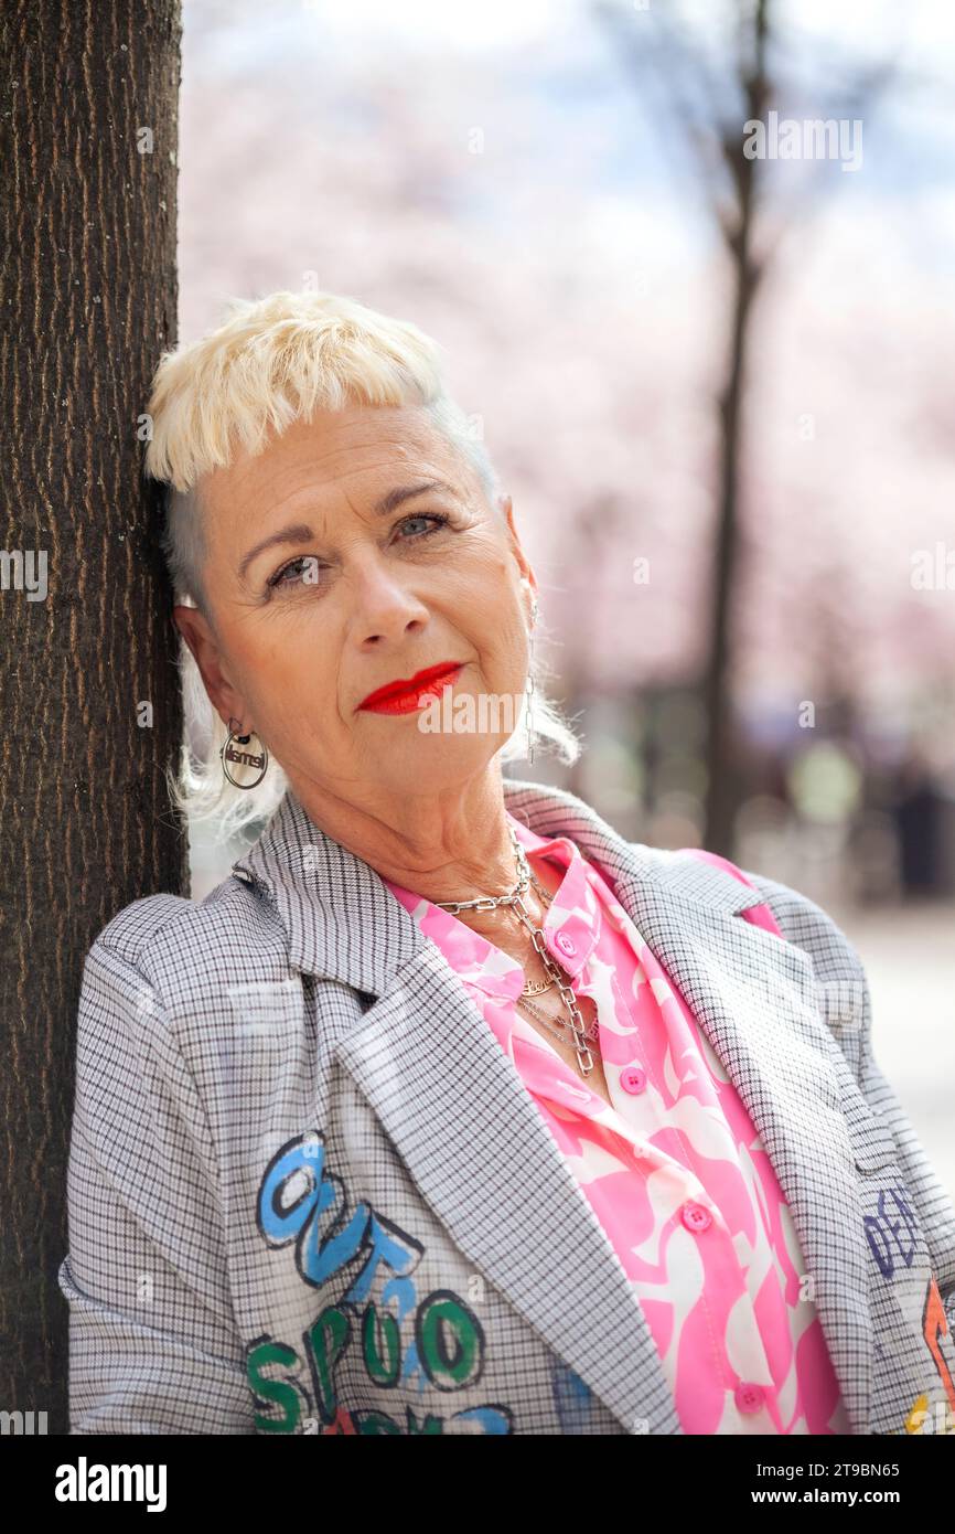
[[[207,899],[135,900],[87,956],[72,1431],[904,1433],[955,1407],[955,1210],[843,934],[503,776],[576,741],[435,345],[276,293],[167,354],[150,414],[221,732],[175,793],[267,824]]]

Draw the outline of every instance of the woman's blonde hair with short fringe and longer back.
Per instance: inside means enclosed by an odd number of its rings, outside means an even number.
[[[162,354],[149,400],[144,468],[169,486],[162,552],[176,601],[199,607],[213,623],[202,583],[201,477],[227,468],[236,448],[253,456],[264,451],[270,431],[281,434],[316,410],[423,407],[475,469],[489,506],[500,511],[500,483],[484,445],[446,393],[437,342],[417,325],[333,293],[233,298],[230,310],[216,330]],[[178,775],[167,773],[170,799],[190,821],[210,821],[219,838],[231,838],[271,815],[288,779],[271,758],[256,788],[230,784],[219,758],[228,732],[184,640],[179,673],[187,739]],[[561,761],[573,762],[579,741],[538,687],[543,676],[544,666],[535,660],[533,729],[558,747]],[[518,729],[498,752],[501,762],[523,756],[518,735],[526,715],[524,693]]]

